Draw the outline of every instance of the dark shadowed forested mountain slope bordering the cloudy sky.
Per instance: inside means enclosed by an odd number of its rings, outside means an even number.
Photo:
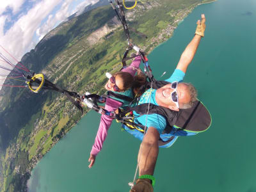
[[[83,13],[79,17],[61,24],[58,28],[47,33],[35,49],[26,53],[22,57],[21,63],[33,72],[47,70],[45,76],[50,77],[53,70],[49,63],[56,58],[56,55],[68,49],[70,44],[74,44],[84,36],[88,36],[93,30],[102,27],[114,16],[115,13],[107,6]],[[13,76],[13,72],[9,76]],[[4,84],[12,84],[12,81],[7,79]],[[4,97],[1,100],[0,114],[1,122],[3,122],[0,127],[3,148],[8,146],[9,141],[17,136],[19,129],[26,125],[30,117],[45,102],[47,94],[44,95],[44,98],[41,94],[31,93],[20,88],[3,87],[1,95],[4,95]],[[19,113],[19,116],[17,113]],[[15,118],[15,121],[13,121],[13,118]]]

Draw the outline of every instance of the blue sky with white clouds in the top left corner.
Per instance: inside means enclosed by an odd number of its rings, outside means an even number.
[[[0,3],[0,45],[14,58],[34,49],[35,45],[68,16],[81,13],[88,4],[99,0],[1,0]],[[0,46],[0,52],[10,58]],[[0,65],[3,65],[3,62]],[[6,70],[0,68],[0,74]],[[3,84],[3,77],[0,77]],[[1,90],[1,86],[0,86]]]

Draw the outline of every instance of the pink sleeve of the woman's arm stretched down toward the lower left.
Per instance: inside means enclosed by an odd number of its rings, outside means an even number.
[[[122,102],[108,98],[106,100],[105,109],[108,111],[115,111],[115,109],[120,108],[120,106],[122,106]],[[102,145],[106,140],[108,129],[112,123],[112,120],[113,118],[110,118],[107,115],[101,115],[99,129],[91,150],[92,155],[97,156],[102,149]]]

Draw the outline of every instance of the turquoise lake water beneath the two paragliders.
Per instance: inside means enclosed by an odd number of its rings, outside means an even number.
[[[160,148],[155,191],[256,191],[256,1],[220,0],[195,8],[173,38],[149,56],[157,79],[172,74],[205,13],[207,30],[185,81],[212,114],[212,126],[197,136]],[[158,67],[160,66],[161,67]],[[158,78],[166,71],[162,78]],[[115,123],[88,169],[100,116],[93,111],[45,155],[32,172],[30,192],[129,191],[140,142]]]

